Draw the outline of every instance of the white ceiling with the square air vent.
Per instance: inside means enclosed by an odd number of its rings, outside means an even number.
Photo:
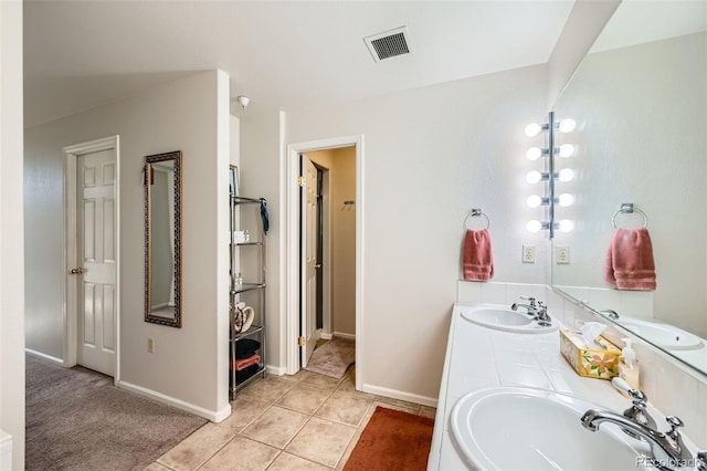
[[[545,63],[573,2],[25,0],[25,126],[200,70],[261,113]],[[401,25],[413,53],[376,63],[362,38]]]

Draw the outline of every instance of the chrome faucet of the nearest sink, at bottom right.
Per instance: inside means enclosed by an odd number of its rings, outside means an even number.
[[[585,429],[597,431],[602,422],[618,425],[630,437],[648,443],[652,453],[651,464],[662,470],[693,469],[695,462],[699,467],[700,460],[705,458],[700,457],[704,452],[698,453],[695,460],[693,459],[690,451],[683,442],[683,437],[677,431],[679,427],[683,427],[683,421],[679,418],[675,416],[666,417],[665,420],[671,426],[671,430],[666,432],[657,431],[655,420],[646,411],[646,395],[637,389],[631,389],[621,379],[614,378],[612,383],[618,389],[624,390],[631,396],[633,405],[623,415],[609,410],[588,410],[581,418],[582,426]]]

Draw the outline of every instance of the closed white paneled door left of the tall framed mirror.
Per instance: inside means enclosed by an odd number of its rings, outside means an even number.
[[[115,376],[116,149],[76,159],[77,352],[80,365]]]

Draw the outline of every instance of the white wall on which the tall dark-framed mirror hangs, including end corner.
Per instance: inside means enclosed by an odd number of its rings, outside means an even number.
[[[122,312],[117,379],[125,387],[197,408],[204,417],[228,415],[228,76],[209,71],[27,129],[29,348],[64,356],[62,148],[118,134]],[[170,150],[182,151],[182,328],[144,322],[140,170],[145,156]],[[155,354],[147,353],[147,337],[155,338]]]

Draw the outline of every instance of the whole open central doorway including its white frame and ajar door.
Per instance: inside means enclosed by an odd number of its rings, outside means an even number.
[[[362,137],[291,145],[287,158],[287,373],[307,364],[318,339],[345,338],[360,390]]]

